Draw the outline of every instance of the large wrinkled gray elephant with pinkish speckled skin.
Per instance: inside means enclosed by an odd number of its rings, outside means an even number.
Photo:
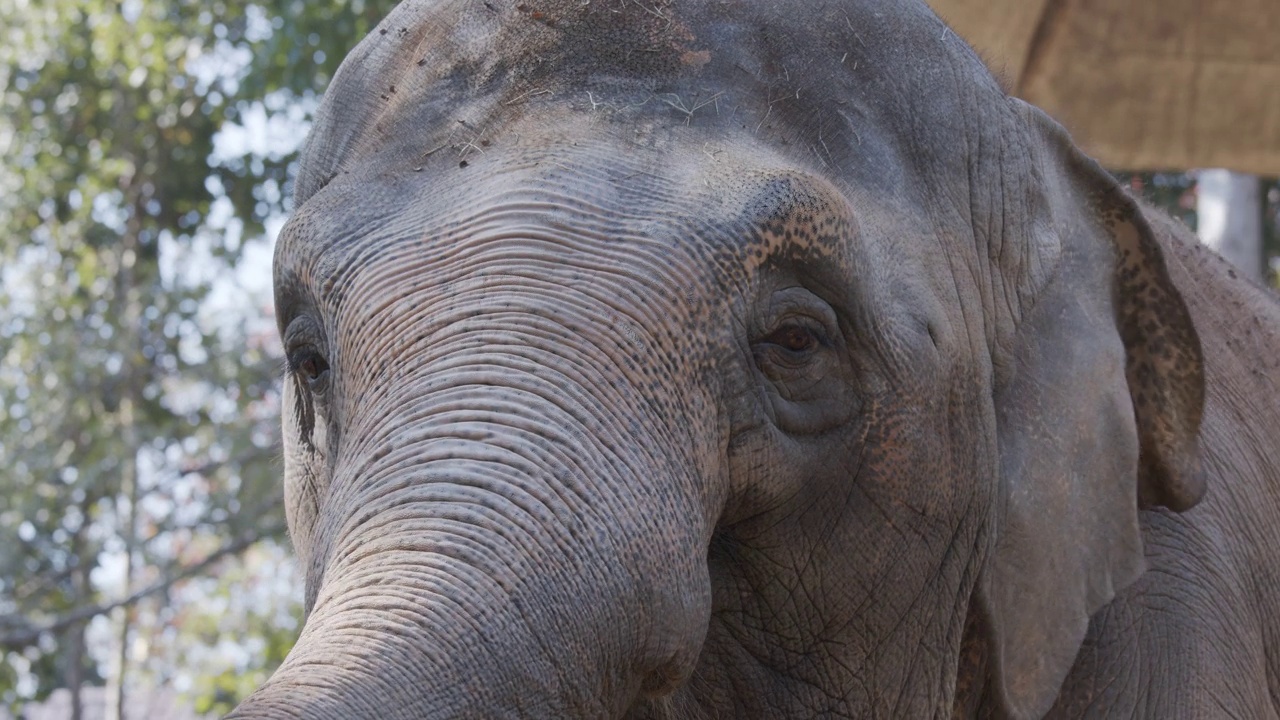
[[[233,717],[1276,716],[1263,291],[920,1],[517,1],[321,106]]]

